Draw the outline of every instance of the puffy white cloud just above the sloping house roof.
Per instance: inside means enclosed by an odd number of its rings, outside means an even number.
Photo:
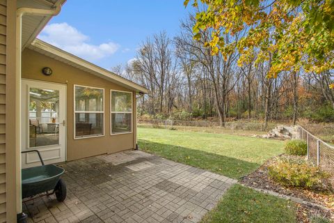
[[[88,61],[97,61],[111,56],[120,48],[120,45],[113,42],[90,44],[88,36],[66,22],[45,26],[38,38]]]

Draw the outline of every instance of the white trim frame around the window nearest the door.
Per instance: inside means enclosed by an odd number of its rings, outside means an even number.
[[[75,108],[75,87],[76,86],[82,86],[82,87],[86,87],[86,88],[90,88],[90,89],[100,89],[103,91],[103,112],[84,112],[84,111],[77,111]],[[96,87],[96,86],[86,86],[86,85],[79,85],[79,84],[74,84],[73,85],[73,139],[88,139],[88,138],[95,138],[95,137],[104,137],[104,128],[105,128],[105,100],[106,97],[104,95],[104,89]],[[76,113],[103,113],[103,128],[102,128],[102,134],[92,134],[92,135],[87,135],[87,136],[82,136],[82,137],[76,137],[75,136],[75,130],[76,130],[76,126],[75,126],[75,114]]]

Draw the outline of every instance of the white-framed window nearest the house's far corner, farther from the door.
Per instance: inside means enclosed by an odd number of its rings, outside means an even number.
[[[132,92],[111,91],[111,134],[132,132]]]

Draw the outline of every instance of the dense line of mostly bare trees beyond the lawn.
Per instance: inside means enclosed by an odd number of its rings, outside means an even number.
[[[194,21],[181,22],[180,33],[169,38],[166,32],[148,37],[136,59],[116,72],[150,90],[138,100],[138,114],[154,118],[216,117],[221,125],[227,119],[290,121],[299,118],[316,122],[334,121],[334,71],[317,75],[283,72],[268,79],[269,63],[250,61],[238,66],[239,54],[211,54],[205,42],[193,40]],[[228,34],[226,34],[228,35]],[[233,36],[234,41],[241,36]],[[228,39],[228,38],[226,38]]]

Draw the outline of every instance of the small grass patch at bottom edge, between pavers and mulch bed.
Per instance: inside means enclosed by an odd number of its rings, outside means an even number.
[[[202,223],[218,222],[296,222],[294,203],[248,187],[233,185]]]

